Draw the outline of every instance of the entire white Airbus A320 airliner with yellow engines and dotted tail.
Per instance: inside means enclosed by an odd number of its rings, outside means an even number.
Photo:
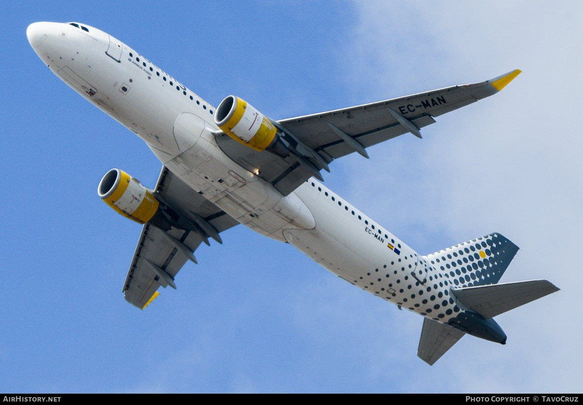
[[[349,153],[435,123],[494,95],[519,70],[470,85],[275,121],[236,96],[218,107],[141,54],[80,23],[38,22],[30,45],[51,71],[146,142],[162,162],[153,189],[120,169],[99,183],[115,211],[143,224],[124,282],[140,309],[176,288],[195,250],[237,224],[290,243],[350,284],[424,317],[417,355],[434,364],[464,334],[505,344],[493,317],[559,289],[498,284],[518,247],[490,233],[422,256],[326,188],[320,171]],[[316,180],[318,179],[318,180]]]

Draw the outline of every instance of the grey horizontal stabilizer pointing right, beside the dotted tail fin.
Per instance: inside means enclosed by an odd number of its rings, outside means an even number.
[[[559,291],[546,280],[507,282],[478,287],[452,288],[452,293],[470,310],[486,319]]]

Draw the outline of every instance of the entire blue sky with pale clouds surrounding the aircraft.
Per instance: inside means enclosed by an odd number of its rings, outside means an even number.
[[[581,392],[580,21],[564,2],[24,2],[2,13],[2,392]],[[497,317],[434,366],[421,317],[237,226],[147,310],[121,293],[140,226],[97,196],[120,167],[153,187],[143,142],[43,66],[37,21],[112,34],[213,105],[276,119],[524,72],[325,183],[422,254],[501,232],[501,281],[561,291]]]

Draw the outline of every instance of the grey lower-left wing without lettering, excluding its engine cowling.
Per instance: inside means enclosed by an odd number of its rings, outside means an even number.
[[[197,233],[173,226],[170,231],[164,232],[150,224],[143,226],[122,290],[125,292],[126,301],[141,309],[156,298],[158,295],[156,290],[160,285],[164,288],[167,285],[175,288],[174,277],[188,260],[188,252],[184,253],[184,250],[178,249],[177,246],[182,246],[175,241],[173,243],[170,238],[174,238],[194,252],[201,242],[208,242],[209,236],[213,238],[211,234],[215,231],[217,234],[214,238],[218,239],[218,232],[223,232],[238,224],[215,204],[184,184],[165,166],[162,166],[155,191],[156,197],[161,197],[178,214],[191,218],[192,222],[196,222],[196,215],[198,215],[198,222],[203,226],[212,225],[214,231],[207,229],[205,232],[202,229]]]

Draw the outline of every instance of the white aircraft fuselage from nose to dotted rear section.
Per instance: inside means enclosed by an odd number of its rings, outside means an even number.
[[[440,270],[314,179],[284,197],[219,148],[213,106],[107,33],[79,26],[86,30],[35,23],[27,34],[54,74],[142,138],[182,181],[241,224],[290,243],[346,281],[447,319],[454,300]],[[424,285],[411,274],[418,266],[427,273]]]

